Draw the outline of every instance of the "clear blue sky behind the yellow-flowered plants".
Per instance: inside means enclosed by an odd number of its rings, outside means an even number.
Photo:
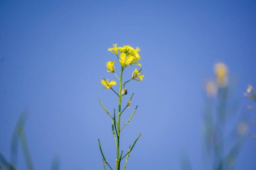
[[[25,110],[36,169],[50,169],[53,158],[64,170],[102,169],[98,138],[114,161],[110,120],[98,99],[108,108],[117,103],[100,85],[102,77],[114,79],[105,65],[115,58],[107,49],[117,43],[141,48],[145,75],[128,91],[139,108],[122,146],[143,133],[128,168],[180,169],[188,155],[202,169],[203,85],[214,64],[228,65],[240,110],[249,102],[248,83],[256,87],[255,9],[255,1],[2,0],[1,153],[9,157],[11,133]],[[247,138],[236,169],[256,168],[255,149]],[[19,166],[25,169],[21,152]]]

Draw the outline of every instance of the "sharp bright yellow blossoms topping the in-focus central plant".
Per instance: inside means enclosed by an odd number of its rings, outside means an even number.
[[[141,64],[138,62],[138,60],[140,60],[141,58],[141,56],[139,55],[140,49],[138,47],[133,48],[129,45],[118,47],[117,44],[113,44],[113,48],[108,48],[108,51],[117,55],[117,59],[122,69],[124,69],[128,65],[132,66],[134,64],[141,67]],[[106,68],[109,73],[115,73],[115,60],[106,62]],[[135,69],[131,75],[130,81],[131,80],[142,81],[143,77],[144,75],[141,75],[141,70],[138,71],[137,69]],[[102,85],[104,85],[105,89],[110,89],[112,88],[113,85],[117,84],[115,81],[109,82],[108,80],[105,80],[105,79],[102,79],[101,83]]]

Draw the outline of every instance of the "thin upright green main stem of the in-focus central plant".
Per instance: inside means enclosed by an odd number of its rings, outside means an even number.
[[[116,170],[120,170],[120,157],[119,157],[119,146],[120,146],[120,118],[121,118],[121,104],[122,104],[122,79],[123,79],[123,67],[121,66],[120,80],[119,80],[119,109],[118,109],[118,120],[117,120],[117,158],[116,158]]]

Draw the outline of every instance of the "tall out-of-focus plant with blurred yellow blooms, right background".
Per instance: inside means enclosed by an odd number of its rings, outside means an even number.
[[[234,169],[236,157],[246,134],[246,130],[241,128],[246,124],[234,114],[236,110],[229,110],[229,108],[236,108],[237,104],[231,102],[228,68],[223,63],[218,63],[215,66],[215,73],[216,81],[210,81],[211,84],[207,83],[208,87],[205,88],[208,96],[203,114],[205,150],[212,164],[210,169],[231,170]],[[231,131],[229,131],[230,128]]]

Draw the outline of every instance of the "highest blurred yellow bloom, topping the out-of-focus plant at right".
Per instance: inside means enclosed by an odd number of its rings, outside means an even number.
[[[214,67],[217,83],[220,87],[228,84],[228,67],[224,63],[217,63]]]

